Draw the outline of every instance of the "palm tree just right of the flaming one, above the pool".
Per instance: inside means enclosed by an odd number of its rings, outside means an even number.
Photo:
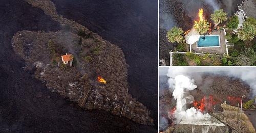
[[[223,12],[222,9],[216,10],[213,14],[210,15],[212,21],[214,21],[216,27],[219,23],[227,20],[227,13]]]

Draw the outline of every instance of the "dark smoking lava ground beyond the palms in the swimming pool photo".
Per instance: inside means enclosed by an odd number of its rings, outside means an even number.
[[[197,19],[198,10],[204,9],[205,19],[210,21],[210,14],[216,9],[223,9],[228,16],[236,13],[242,0],[160,0],[159,1],[159,58],[169,64],[169,50],[174,50],[177,43],[167,41],[166,33],[173,26],[187,31],[192,28]]]

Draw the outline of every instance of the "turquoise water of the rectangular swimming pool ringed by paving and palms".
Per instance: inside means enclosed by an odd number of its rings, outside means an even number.
[[[197,47],[214,47],[214,46],[220,46],[219,36],[200,36],[197,42]]]

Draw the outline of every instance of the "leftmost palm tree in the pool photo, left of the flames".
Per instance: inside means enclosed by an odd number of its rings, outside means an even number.
[[[167,32],[167,39],[169,42],[174,43],[175,41],[180,43],[184,41],[184,37],[182,36],[183,30],[181,28],[178,28],[177,26],[174,26],[172,29],[170,29]]]

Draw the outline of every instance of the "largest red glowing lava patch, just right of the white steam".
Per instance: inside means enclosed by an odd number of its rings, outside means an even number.
[[[212,95],[209,95],[208,97],[204,96],[200,101],[194,101],[194,107],[201,112],[204,112],[205,110],[212,111],[213,105],[216,104],[214,97]]]

